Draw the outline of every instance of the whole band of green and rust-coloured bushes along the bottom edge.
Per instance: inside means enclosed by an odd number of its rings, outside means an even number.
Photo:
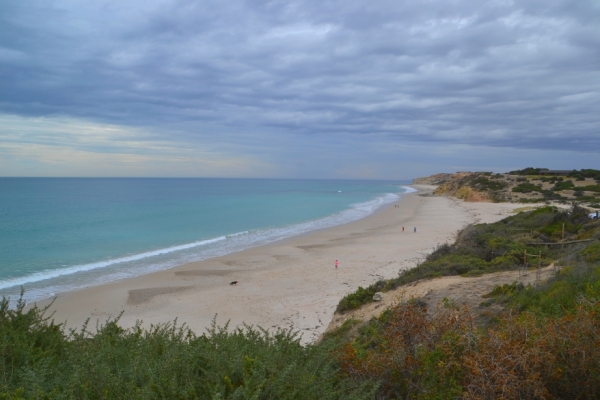
[[[523,292],[512,289],[491,295]],[[213,327],[196,337],[117,321],[64,335],[40,310],[4,300],[0,398],[599,398],[600,292],[587,293],[560,314],[532,306],[487,330],[451,302],[432,311],[411,301],[352,343],[307,347],[286,331]]]

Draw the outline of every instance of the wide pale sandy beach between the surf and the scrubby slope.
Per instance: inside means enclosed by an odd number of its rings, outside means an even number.
[[[125,327],[177,318],[201,334],[217,315],[219,325],[292,328],[302,333],[302,342],[312,342],[345,294],[415,266],[438,244],[453,242],[465,225],[494,222],[519,207],[432,197],[427,193],[433,187],[413,187],[419,191],[359,221],[59,294],[51,308],[54,319],[77,328],[90,318],[95,326],[123,311]]]

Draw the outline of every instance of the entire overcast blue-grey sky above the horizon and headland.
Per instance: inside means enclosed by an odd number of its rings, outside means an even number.
[[[599,160],[598,0],[0,1],[0,176]]]

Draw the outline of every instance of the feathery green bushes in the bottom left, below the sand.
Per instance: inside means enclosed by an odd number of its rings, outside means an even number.
[[[338,373],[331,344],[296,334],[215,326],[195,336],[175,324],[65,334],[43,311],[0,303],[0,398],[372,398],[375,385]]]

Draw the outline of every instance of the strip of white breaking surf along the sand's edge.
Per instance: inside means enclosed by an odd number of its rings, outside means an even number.
[[[48,269],[33,272],[22,277],[8,278],[1,283],[6,285],[7,282],[10,281],[16,280],[17,282],[10,282],[9,285],[1,287],[0,292],[4,292],[4,296],[18,298],[19,287],[26,286],[27,293],[25,300],[27,303],[41,302],[54,298],[61,293],[101,286],[126,279],[133,279],[154,272],[176,268],[183,264],[222,257],[253,247],[260,247],[293,237],[304,236],[311,234],[312,232],[329,229],[369,217],[397,202],[404,194],[411,193],[411,191],[415,190],[407,184],[397,184],[395,186],[405,190],[405,192],[381,193],[376,197],[348,204],[346,208],[334,211],[332,214],[317,216],[310,220],[272,226],[264,225],[257,228],[242,228],[241,230],[234,230],[230,233],[221,233],[220,235],[217,234],[217,236],[212,237],[208,236],[203,239],[191,239],[191,241],[188,242],[184,241],[178,244],[166,245],[166,247],[147,249],[138,253],[116,255],[107,259],[95,260],[87,263],[81,262],[62,269]],[[212,246],[215,243],[217,244],[217,247]],[[193,249],[196,251],[196,254],[185,254],[188,249]],[[183,256],[181,251],[184,252]],[[175,254],[173,260],[163,259],[162,261],[159,261],[157,265],[160,266],[158,268],[152,265],[153,262],[156,262],[152,257],[163,256],[164,254],[174,252],[177,254]],[[177,257],[179,257],[179,259],[175,260]],[[149,263],[146,267],[143,265],[131,264],[131,262],[148,258],[151,259],[146,261],[147,264]],[[185,258],[187,258],[187,260]],[[121,273],[121,271],[123,272]],[[81,276],[81,274],[88,274],[88,276]],[[82,277],[83,279],[81,279]],[[66,279],[63,280],[63,278]],[[69,279],[71,281],[69,281]],[[59,283],[60,280],[62,280],[62,283]],[[43,282],[43,284],[40,284],[40,282]],[[65,282],[67,283],[65,284]],[[47,286],[44,287],[44,284]]]

